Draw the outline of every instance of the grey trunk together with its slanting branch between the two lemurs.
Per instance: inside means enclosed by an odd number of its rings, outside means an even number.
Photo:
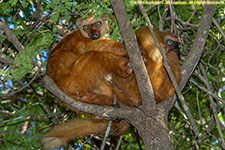
[[[122,37],[135,71],[139,91],[142,96],[141,108],[150,113],[152,117],[146,117],[145,113],[136,112],[131,120],[144,140],[146,149],[172,149],[172,142],[167,129],[167,110],[162,105],[155,104],[153,89],[138,50],[138,44],[132,31],[124,1],[111,0]],[[162,144],[163,143],[163,144]]]

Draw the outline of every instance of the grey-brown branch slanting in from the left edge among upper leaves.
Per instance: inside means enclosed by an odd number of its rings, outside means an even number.
[[[0,29],[5,31],[7,39],[15,46],[15,48],[22,52],[24,47],[14,35],[14,33],[9,29],[8,25],[5,22],[0,21]]]

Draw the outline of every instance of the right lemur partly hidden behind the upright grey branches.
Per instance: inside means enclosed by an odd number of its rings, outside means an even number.
[[[177,55],[179,52],[178,36],[170,32],[161,33],[157,29],[154,29],[154,32],[167,56],[176,81],[179,83],[181,80],[181,70],[179,65],[179,56]],[[146,61],[146,69],[154,90],[156,103],[160,103],[173,95],[173,84],[164,68],[163,57],[158,50],[148,27],[141,27],[135,34],[138,44],[142,49],[144,49],[143,55]],[[138,106],[142,104],[141,95],[138,90],[134,73],[130,74],[127,78],[116,76],[116,81],[122,89],[121,91],[118,86],[114,87],[114,92],[119,101],[122,101],[128,106]],[[126,96],[124,93],[126,93]]]

